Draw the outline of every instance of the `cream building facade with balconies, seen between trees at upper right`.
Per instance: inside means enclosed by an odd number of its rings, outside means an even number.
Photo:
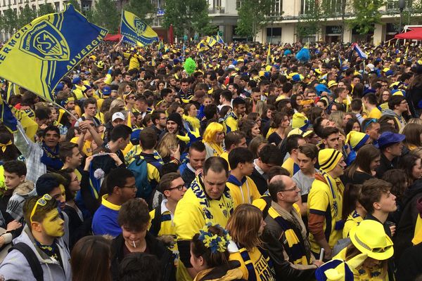
[[[318,1],[318,0],[312,0]],[[326,18],[321,18],[319,31],[310,34],[305,38],[298,36],[298,27],[302,18],[307,13],[312,13],[311,0],[274,0],[269,15],[269,24],[257,34],[257,41],[262,43],[294,43],[296,41],[344,41],[352,42],[358,39],[365,39],[374,44],[389,40],[399,32],[399,0],[386,0],[385,6],[381,7],[382,24],[374,26],[373,32],[366,34],[366,38],[358,34],[357,30],[348,27],[346,20],[353,18],[354,10],[350,0],[327,0],[331,8],[330,14]],[[412,2],[420,3],[421,0],[407,0],[407,4]],[[237,8],[241,7],[241,0],[208,0],[209,15],[213,25],[218,25],[223,32],[225,41],[241,40],[244,38],[236,35],[236,24],[238,20]],[[346,3],[345,9],[342,4]],[[344,12],[343,12],[344,11]],[[342,16],[343,15],[343,16]],[[404,8],[404,16],[409,16],[409,8]],[[416,25],[419,22],[411,22]]]

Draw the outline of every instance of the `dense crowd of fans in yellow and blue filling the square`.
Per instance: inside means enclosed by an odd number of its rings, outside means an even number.
[[[1,81],[2,280],[422,280],[422,51],[362,49],[103,43],[54,103]]]

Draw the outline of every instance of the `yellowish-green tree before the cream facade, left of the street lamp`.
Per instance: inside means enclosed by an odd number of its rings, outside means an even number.
[[[369,34],[375,30],[375,24],[381,23],[381,12],[384,6],[383,0],[354,0],[355,17],[347,20],[350,28],[357,30],[359,34]]]

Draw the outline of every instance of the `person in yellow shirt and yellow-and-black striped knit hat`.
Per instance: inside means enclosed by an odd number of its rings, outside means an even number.
[[[324,258],[331,259],[332,250],[342,237],[344,222],[343,183],[340,176],[346,166],[340,151],[326,148],[318,155],[320,173],[315,174],[308,195],[308,228],[311,251],[318,256],[324,248]]]

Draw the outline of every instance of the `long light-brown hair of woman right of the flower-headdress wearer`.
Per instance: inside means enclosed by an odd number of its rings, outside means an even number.
[[[231,214],[226,230],[236,244],[241,244],[248,251],[262,245],[260,228],[262,211],[251,204],[240,204]]]

